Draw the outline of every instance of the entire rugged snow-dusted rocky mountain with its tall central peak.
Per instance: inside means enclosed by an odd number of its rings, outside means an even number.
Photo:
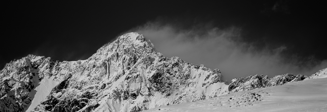
[[[320,77],[321,75],[319,75]],[[54,61],[28,55],[0,71],[1,112],[136,112],[303,80],[285,74],[234,78],[178,57],[165,58],[132,32],[102,46],[87,60]]]

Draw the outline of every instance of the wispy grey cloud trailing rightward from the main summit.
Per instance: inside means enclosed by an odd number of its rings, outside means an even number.
[[[303,60],[301,56],[285,55],[287,46],[272,48],[267,43],[266,47],[258,48],[255,42],[242,41],[242,29],[235,26],[220,29],[210,22],[194,23],[189,28],[184,26],[180,22],[158,19],[128,32],[143,34],[165,57],[177,56],[189,63],[220,69],[227,81],[249,74],[308,76],[327,67],[326,60]]]

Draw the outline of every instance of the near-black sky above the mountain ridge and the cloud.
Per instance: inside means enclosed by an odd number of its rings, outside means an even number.
[[[239,41],[259,51],[285,46],[282,55],[296,57],[300,64],[327,59],[326,7],[320,1],[14,1],[2,6],[0,69],[27,54],[85,60],[118,35],[149,21],[174,24],[175,30],[199,24],[203,29],[208,24],[237,27]]]

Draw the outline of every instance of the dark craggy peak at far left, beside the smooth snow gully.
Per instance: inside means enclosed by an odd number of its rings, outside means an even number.
[[[31,91],[43,77],[51,76],[55,67],[51,58],[28,55],[7,63],[0,71],[0,110],[24,111],[31,102]]]

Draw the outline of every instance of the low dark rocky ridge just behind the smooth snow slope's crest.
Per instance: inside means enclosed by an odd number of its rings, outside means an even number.
[[[305,79],[307,76],[304,75],[293,75],[293,74],[284,74],[278,75],[272,78],[268,78],[268,76],[263,77],[263,75],[249,75],[248,77],[241,78],[233,78],[232,82],[228,86],[228,91],[230,92],[238,92],[238,91],[246,91],[253,90],[256,88],[263,87],[271,87],[277,85],[283,85],[286,83],[291,83],[295,81],[301,81]]]

